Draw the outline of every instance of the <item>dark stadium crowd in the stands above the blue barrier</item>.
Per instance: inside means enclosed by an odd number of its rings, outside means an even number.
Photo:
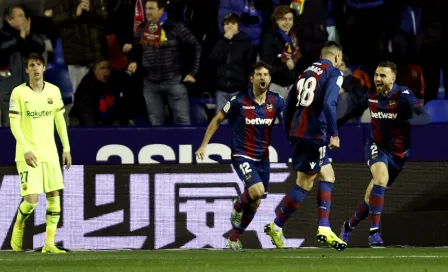
[[[71,126],[205,125],[249,88],[256,60],[272,65],[270,90],[286,98],[328,40],[345,55],[338,113],[373,87],[387,59],[398,84],[425,106],[440,99],[428,112],[448,118],[444,0],[17,2],[0,4],[1,126],[33,52],[46,56],[45,80],[60,87]]]

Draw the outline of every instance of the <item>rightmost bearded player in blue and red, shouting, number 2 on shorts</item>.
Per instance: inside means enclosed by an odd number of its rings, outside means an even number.
[[[371,134],[364,150],[372,180],[367,186],[364,200],[342,226],[339,237],[345,242],[348,242],[356,225],[369,216],[369,245],[384,244],[379,233],[384,193],[406,162],[411,126],[430,122],[429,115],[409,88],[395,84],[396,76],[397,66],[394,63],[381,62],[375,72],[376,90],[367,93],[358,107],[338,120],[338,125],[341,125],[361,115],[367,108],[372,117]],[[413,113],[417,114],[415,118]]]

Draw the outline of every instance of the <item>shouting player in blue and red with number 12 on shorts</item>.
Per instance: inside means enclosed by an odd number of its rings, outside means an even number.
[[[239,237],[266,197],[269,185],[269,145],[275,118],[282,118],[283,98],[268,91],[271,67],[263,62],[253,66],[252,88],[232,97],[211,121],[201,147],[196,151],[202,160],[206,146],[224,119],[229,119],[232,133],[232,165],[245,185],[242,195],[233,202],[232,232],[227,246],[241,250]]]

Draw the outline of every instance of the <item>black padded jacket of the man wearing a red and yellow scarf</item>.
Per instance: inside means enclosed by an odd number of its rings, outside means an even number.
[[[145,25],[142,24],[137,33],[141,37]],[[168,19],[163,25],[166,33],[167,44],[161,47],[152,47],[138,43],[130,52],[131,59],[141,61],[148,79],[155,82],[166,81],[176,76],[189,74],[196,76],[199,71],[201,58],[201,44],[193,33],[182,22],[174,22]],[[193,55],[191,65],[186,66],[186,59]],[[187,53],[187,54],[186,54]]]

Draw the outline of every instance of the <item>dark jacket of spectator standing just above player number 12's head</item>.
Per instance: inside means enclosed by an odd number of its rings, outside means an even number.
[[[255,58],[246,34],[239,32],[231,40],[222,37],[210,54],[216,67],[216,88],[225,92],[247,89],[251,65]]]

